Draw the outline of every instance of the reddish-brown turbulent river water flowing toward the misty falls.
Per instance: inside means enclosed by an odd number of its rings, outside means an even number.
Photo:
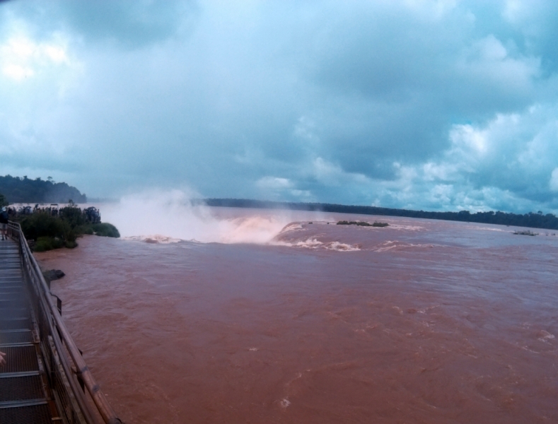
[[[558,236],[273,214],[36,254],[126,423],[558,422]]]

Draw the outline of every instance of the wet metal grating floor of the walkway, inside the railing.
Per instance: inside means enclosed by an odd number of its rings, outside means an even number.
[[[61,422],[40,360],[33,313],[29,307],[18,245],[0,240],[0,423]]]

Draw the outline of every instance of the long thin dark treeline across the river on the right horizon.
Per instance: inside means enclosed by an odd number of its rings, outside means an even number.
[[[376,206],[347,206],[319,203],[292,203],[279,201],[260,201],[248,199],[206,199],[208,206],[228,206],[231,208],[292,209],[295,211],[322,211],[336,213],[359,213],[361,215],[405,216],[408,218],[427,218],[455,220],[470,223],[516,225],[518,227],[547,228],[558,230],[558,218],[552,213],[529,212],[524,215],[505,212],[428,212],[407,209],[378,208]]]

